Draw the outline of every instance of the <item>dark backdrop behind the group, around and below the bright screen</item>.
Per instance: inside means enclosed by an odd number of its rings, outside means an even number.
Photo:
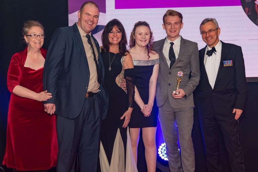
[[[7,112],[10,98],[10,93],[6,87],[6,75],[11,56],[15,52],[22,51],[25,48],[25,45],[20,41],[23,23],[29,19],[38,20],[43,23],[46,35],[43,48],[47,49],[53,31],[58,27],[68,26],[68,1],[1,1],[0,17],[0,162],[2,163],[6,142]],[[256,53],[254,53],[254,55],[256,55]],[[246,171],[256,172],[258,171],[258,83],[247,83],[247,86],[247,110],[242,114],[239,120],[239,141],[242,145]],[[198,107],[194,110],[192,138],[195,149],[196,172],[206,172],[204,146],[198,120]],[[220,138],[220,149],[223,152],[221,154],[223,171],[230,172],[231,170],[228,165],[228,157],[222,137]],[[139,143],[138,151],[139,172],[147,171],[142,141]],[[164,160],[160,160],[158,157],[157,169],[163,172],[169,171],[166,165]],[[3,165],[0,165],[0,167],[5,171],[11,171],[11,169]],[[55,171],[55,169],[51,171]]]

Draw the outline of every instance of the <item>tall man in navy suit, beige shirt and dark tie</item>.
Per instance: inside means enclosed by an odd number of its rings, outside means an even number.
[[[53,97],[44,107],[57,114],[58,172],[74,171],[76,154],[80,171],[97,170],[100,125],[108,107],[103,61],[91,34],[98,19],[98,6],[84,3],[78,22],[56,29],[48,48],[43,84]]]

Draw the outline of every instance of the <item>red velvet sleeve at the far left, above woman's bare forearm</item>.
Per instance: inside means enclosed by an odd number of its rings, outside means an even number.
[[[21,75],[21,56],[19,53],[15,53],[9,65],[7,72],[7,88],[12,93],[13,88],[20,85],[20,75]]]

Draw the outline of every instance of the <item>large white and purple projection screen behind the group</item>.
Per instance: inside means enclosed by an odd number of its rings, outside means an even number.
[[[155,40],[165,38],[162,28],[162,17],[168,9],[179,11],[183,15],[183,29],[180,35],[197,42],[199,49],[205,46],[199,25],[205,18],[216,18],[221,28],[220,40],[242,47],[244,54],[246,77],[258,77],[258,14],[254,10],[246,15],[245,1],[240,0],[92,0],[100,9],[98,26],[92,34],[101,43],[104,26],[111,19],[120,20],[129,39],[134,23],[146,21],[150,24]],[[68,0],[69,26],[77,22],[77,13],[85,0]],[[241,3],[243,2],[243,4]],[[256,0],[257,3],[257,0]],[[251,4],[252,5],[252,4]],[[243,7],[242,7],[243,6]]]

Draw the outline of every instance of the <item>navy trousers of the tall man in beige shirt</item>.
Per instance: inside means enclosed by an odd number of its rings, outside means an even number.
[[[57,116],[57,172],[74,171],[76,154],[80,172],[97,170],[102,119],[101,97],[85,98],[81,113],[75,119]]]

